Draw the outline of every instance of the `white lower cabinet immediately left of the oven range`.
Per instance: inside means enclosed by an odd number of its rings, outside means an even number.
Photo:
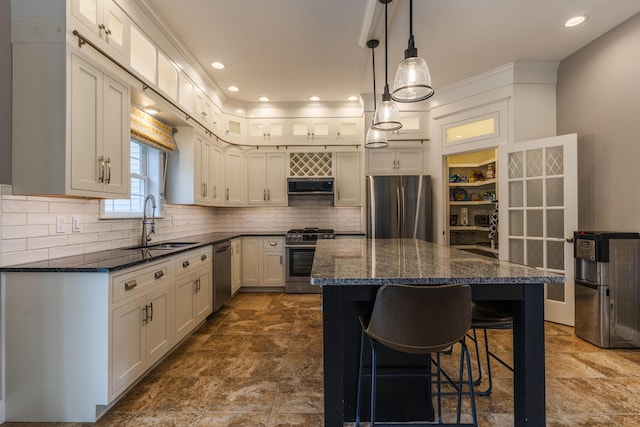
[[[284,286],[284,238],[242,238],[242,286]]]

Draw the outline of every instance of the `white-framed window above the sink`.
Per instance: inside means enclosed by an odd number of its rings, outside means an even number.
[[[153,195],[156,199],[156,218],[162,218],[163,210],[162,206],[164,191],[162,190],[164,176],[164,162],[166,154],[156,148],[147,146],[140,142],[131,141],[132,144],[138,144],[141,147],[141,158],[142,158],[142,173],[134,173],[132,172],[130,175],[130,179],[141,179],[144,182],[145,194],[142,198],[142,202],[144,203],[144,199],[149,195]],[[131,150],[131,155],[135,150]],[[129,160],[131,161],[131,159]],[[132,183],[131,188],[134,188]],[[127,200],[127,199],[116,199],[116,200]],[[131,200],[131,197],[128,199]],[[108,204],[115,200],[101,200],[100,201],[100,219],[131,219],[131,218],[142,218],[143,212],[141,207],[140,210],[129,211],[129,212],[113,212],[107,211]],[[130,205],[131,206],[131,205]]]

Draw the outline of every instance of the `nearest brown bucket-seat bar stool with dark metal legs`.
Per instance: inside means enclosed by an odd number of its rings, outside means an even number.
[[[358,390],[356,400],[356,426],[360,425],[360,400],[362,379],[371,377],[371,426],[375,426],[376,409],[376,353],[378,346],[409,354],[427,355],[427,364],[436,366],[432,376],[436,381],[438,424],[442,419],[440,352],[460,343],[459,379],[454,385],[457,395],[456,425],[477,426],[473,378],[469,350],[464,338],[471,325],[471,288],[454,284],[441,286],[384,285],[376,295],[371,314],[360,316],[360,363],[358,368]],[[363,347],[365,335],[371,345],[371,374],[364,374]],[[436,353],[435,360],[432,354]],[[463,393],[463,372],[467,368],[469,392]],[[417,374],[424,376],[425,374]],[[431,384],[431,381],[429,381]],[[472,424],[461,424],[462,395],[468,395],[471,404]],[[431,391],[429,392],[431,395]],[[427,402],[431,405],[431,402]],[[393,423],[393,425],[399,425]],[[433,422],[410,425],[433,425]]]

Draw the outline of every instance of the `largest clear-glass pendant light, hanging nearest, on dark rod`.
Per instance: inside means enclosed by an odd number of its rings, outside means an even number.
[[[424,101],[433,96],[431,73],[424,59],[418,57],[413,40],[413,0],[409,1],[409,46],[398,65],[391,98],[398,102]]]

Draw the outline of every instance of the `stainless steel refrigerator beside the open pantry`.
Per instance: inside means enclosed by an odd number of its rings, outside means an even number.
[[[429,175],[367,176],[367,238],[433,241]]]

